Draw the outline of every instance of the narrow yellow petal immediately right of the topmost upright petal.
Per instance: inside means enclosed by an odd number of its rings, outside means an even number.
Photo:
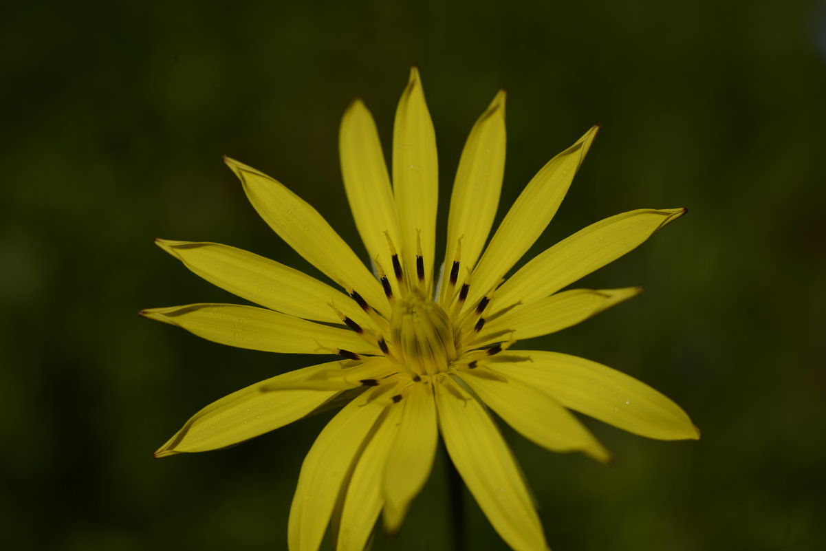
[[[472,270],[491,231],[505,173],[505,96],[504,90],[496,94],[473,125],[462,151],[450,197],[447,268],[461,239],[461,265]]]

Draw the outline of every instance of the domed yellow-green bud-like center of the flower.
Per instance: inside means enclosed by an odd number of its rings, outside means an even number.
[[[401,362],[418,375],[448,370],[456,360],[453,323],[447,313],[418,288],[396,300],[390,318],[392,340]]]

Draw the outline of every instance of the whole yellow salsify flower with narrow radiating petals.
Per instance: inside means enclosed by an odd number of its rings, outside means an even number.
[[[636,296],[638,287],[562,289],[686,211],[611,216],[505,278],[548,226],[597,130],[539,170],[485,247],[505,164],[505,92],[498,93],[459,161],[438,274],[436,146],[417,69],[396,111],[392,185],[363,103],[356,100],[341,123],[344,187],[372,272],[295,193],[225,159],[264,221],[344,292],[227,245],[158,240],[192,272],[262,307],[204,303],[141,314],[220,344],[339,359],[221,398],[155,457],[225,448],[345,403],[301,466],[289,549],[315,551],[331,525],[336,549],[360,551],[380,513],[385,530],[396,532],[441,435],[491,525],[510,547],[527,551],[548,546],[491,410],[546,449],[601,462],[608,451],[568,410],[649,438],[698,438],[686,413],[643,382],[567,354],[510,348]]]

